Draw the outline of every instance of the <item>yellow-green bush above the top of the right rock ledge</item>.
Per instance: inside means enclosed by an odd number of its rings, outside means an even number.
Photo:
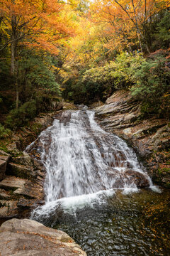
[[[121,53],[104,66],[84,71],[79,81],[70,87],[71,94],[81,100],[106,100],[115,90],[127,89],[133,85],[134,69],[145,61],[140,53],[130,55]]]

